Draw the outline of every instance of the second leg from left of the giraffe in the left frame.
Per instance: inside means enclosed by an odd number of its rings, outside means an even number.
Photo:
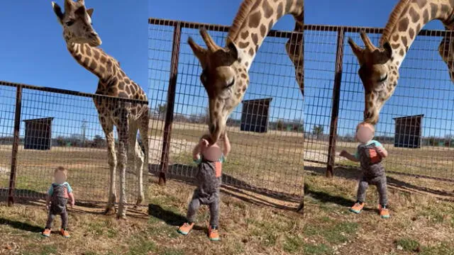
[[[126,164],[128,164],[128,135],[129,119],[128,109],[122,108],[118,113],[118,169],[120,170],[120,198],[118,201],[117,217],[126,219]]]

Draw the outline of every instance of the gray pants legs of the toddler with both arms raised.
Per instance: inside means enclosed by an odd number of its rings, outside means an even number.
[[[212,227],[218,227],[219,225],[219,190],[214,193],[210,193],[208,196],[204,193],[200,193],[199,189],[196,188],[194,195],[192,195],[191,203],[187,209],[187,220],[188,222],[195,222],[196,212],[199,210],[200,205],[208,205],[210,208],[210,225]]]

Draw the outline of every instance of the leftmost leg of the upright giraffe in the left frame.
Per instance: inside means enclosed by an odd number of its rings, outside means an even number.
[[[115,213],[115,201],[116,201],[116,154],[115,154],[115,140],[114,140],[114,123],[107,118],[99,116],[99,122],[106,134],[107,142],[107,157],[109,159],[109,170],[110,170],[110,183],[109,183],[109,200],[105,210],[106,215],[112,215]]]

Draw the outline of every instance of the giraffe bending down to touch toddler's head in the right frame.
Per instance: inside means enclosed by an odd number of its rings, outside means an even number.
[[[380,47],[375,47],[366,33],[360,33],[365,48],[359,47],[352,38],[348,43],[358,59],[358,74],[365,90],[364,120],[377,124],[380,110],[394,94],[399,80],[399,67],[419,31],[429,21],[439,20],[445,30],[454,30],[453,0],[401,0],[394,7],[380,38]],[[445,35],[438,53],[450,71],[454,81],[454,40]]]

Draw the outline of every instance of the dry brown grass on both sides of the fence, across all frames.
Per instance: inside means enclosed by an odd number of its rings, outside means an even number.
[[[180,127],[181,128],[181,127]],[[202,128],[172,132],[172,164],[191,164],[190,150]],[[160,128],[151,130],[153,151],[150,163],[160,157]],[[293,195],[303,183],[303,145],[296,135],[286,132],[255,134],[231,130],[233,153],[224,164],[225,174],[256,188]],[[309,141],[310,142],[310,141]],[[326,159],[326,142],[308,143],[306,157]],[[339,149],[353,152],[356,144],[340,143]],[[387,145],[385,145],[387,146]],[[387,169],[404,165],[400,171],[445,169],[452,164],[452,149],[394,149],[388,147]],[[409,157],[411,155],[411,157]],[[9,167],[11,147],[0,147],[0,166]],[[325,158],[323,158],[325,157]],[[105,200],[108,169],[104,149],[53,148],[48,152],[19,152],[18,188],[24,192],[44,192],[52,181],[52,167],[70,168],[70,183],[77,198]],[[445,162],[445,163],[444,163]],[[419,165],[418,165],[419,164]],[[413,166],[417,165],[417,166]],[[414,169],[411,169],[414,167]],[[410,169],[410,170],[408,170]],[[43,201],[26,202],[8,208],[0,205],[0,254],[454,254],[454,198],[452,183],[388,174],[392,217],[380,220],[374,187],[367,192],[367,208],[360,215],[348,212],[354,201],[358,171],[336,169],[338,177],[326,179],[324,166],[305,164],[305,215],[293,212],[297,203],[224,187],[221,203],[220,243],[209,242],[205,225],[206,208],[199,212],[199,228],[182,237],[177,225],[184,220],[194,186],[171,180],[162,188],[151,178],[147,202],[151,215],[128,211],[128,221],[101,215],[98,207],[77,206],[70,210],[70,239],[53,234],[40,237],[46,212]],[[438,171],[438,170],[437,170]],[[438,174],[433,170],[432,173]],[[134,175],[129,174],[128,193],[133,199]],[[9,174],[1,174],[7,186]],[[59,220],[57,220],[59,222]]]

